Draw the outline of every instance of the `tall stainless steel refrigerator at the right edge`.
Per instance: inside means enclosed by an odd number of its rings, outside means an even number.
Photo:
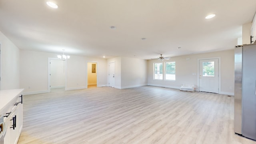
[[[256,44],[235,48],[234,131],[256,140]]]

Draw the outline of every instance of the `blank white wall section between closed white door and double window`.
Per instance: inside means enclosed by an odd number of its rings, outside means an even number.
[[[147,60],[122,57],[121,62],[121,88],[148,85]]]

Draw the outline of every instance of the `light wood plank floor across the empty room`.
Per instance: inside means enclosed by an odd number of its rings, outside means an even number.
[[[142,86],[24,96],[18,144],[256,144],[234,134],[234,97]]]

